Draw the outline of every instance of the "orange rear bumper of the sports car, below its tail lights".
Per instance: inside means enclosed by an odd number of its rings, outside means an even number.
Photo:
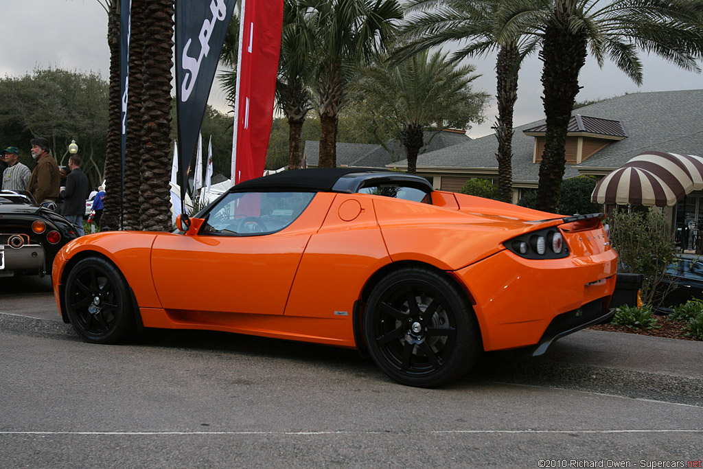
[[[617,254],[534,260],[502,251],[454,274],[472,298],[486,352],[548,347],[607,320]]]

